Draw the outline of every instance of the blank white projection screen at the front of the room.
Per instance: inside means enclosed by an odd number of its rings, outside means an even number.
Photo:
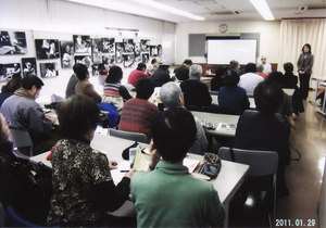
[[[240,64],[255,63],[255,39],[209,39],[208,64],[229,64],[231,60]]]

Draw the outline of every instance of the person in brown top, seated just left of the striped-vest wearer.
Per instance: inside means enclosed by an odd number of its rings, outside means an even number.
[[[88,81],[89,72],[87,69],[87,66],[77,63],[74,66],[74,71],[79,79],[75,86],[75,94],[86,94],[93,99],[97,103],[100,103],[102,101],[101,96],[99,96],[99,93],[95,91],[93,86]]]

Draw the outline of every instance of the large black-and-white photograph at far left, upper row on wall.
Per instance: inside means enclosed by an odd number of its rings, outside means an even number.
[[[26,35],[24,31],[0,31],[0,54],[26,54]]]

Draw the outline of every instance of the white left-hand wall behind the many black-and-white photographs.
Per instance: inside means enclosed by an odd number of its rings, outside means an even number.
[[[152,45],[162,45],[163,59],[175,62],[175,24],[152,20],[142,16],[129,15],[98,8],[80,5],[63,0],[0,0],[0,29],[14,29],[26,31],[27,53],[24,55],[0,55],[0,63],[21,62],[22,58],[36,56],[34,39],[73,40],[73,35],[90,35],[97,37],[115,37],[116,41],[123,38],[134,38],[135,41],[148,38]],[[104,27],[139,29],[138,37],[109,33]],[[164,41],[163,41],[164,39]],[[38,61],[39,63],[58,62],[59,76],[43,79],[41,91],[47,99],[52,94],[64,97],[67,80],[72,69],[62,69],[60,59],[54,61]],[[123,83],[126,83],[131,68],[124,69]],[[96,89],[102,93],[97,78],[91,77]]]

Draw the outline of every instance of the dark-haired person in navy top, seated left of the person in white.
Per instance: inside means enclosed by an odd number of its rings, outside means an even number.
[[[224,86],[218,92],[218,105],[228,110],[231,114],[242,114],[249,109],[249,99],[242,87],[238,87],[240,76],[237,72],[228,69],[223,76]]]

